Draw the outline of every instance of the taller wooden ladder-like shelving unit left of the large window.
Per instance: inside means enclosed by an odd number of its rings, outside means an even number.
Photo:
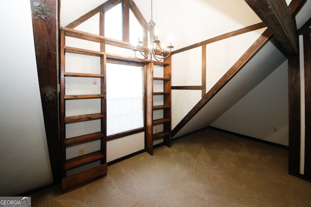
[[[61,129],[61,158],[62,158],[62,191],[70,191],[82,185],[85,185],[94,179],[98,179],[107,174],[106,163],[106,100],[105,100],[105,70],[104,64],[106,61],[106,55],[100,52],[87,51],[79,48],[66,48],[65,47],[65,34],[61,31],[61,57],[60,57],[60,129]],[[100,57],[101,68],[100,74],[87,74],[87,73],[74,73],[66,72],[65,59],[66,53],[76,53],[88,56]],[[86,95],[66,95],[66,78],[99,78],[100,79],[100,94],[86,94]],[[83,100],[83,99],[100,99],[100,112],[67,116],[66,115],[66,101],[67,100]],[[67,138],[66,126],[68,124],[87,122],[92,120],[100,120],[101,131],[90,133],[86,135]],[[75,158],[66,159],[66,149],[72,146],[78,146],[85,143],[100,141],[100,150],[91,152],[85,155],[81,155]],[[78,152],[77,152],[78,153]],[[100,164],[96,167],[84,170],[85,166],[90,163],[100,161]],[[67,175],[69,170],[80,168],[79,173],[73,175]]]

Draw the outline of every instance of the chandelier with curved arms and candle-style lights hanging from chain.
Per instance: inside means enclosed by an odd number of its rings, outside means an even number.
[[[152,60],[152,58],[154,58],[156,61],[161,61],[167,57],[169,57],[169,55],[171,54],[171,49],[174,48],[172,45],[172,42],[170,42],[170,45],[167,47],[170,49],[169,53],[164,56],[164,54],[166,53],[166,51],[163,50],[163,47],[158,47],[158,45],[160,44],[160,40],[158,39],[158,36],[156,35],[155,39],[154,39],[154,29],[155,29],[155,22],[152,20],[153,19],[153,10],[152,10],[152,0],[151,0],[151,20],[148,22],[148,26],[149,26],[149,39],[150,39],[150,46],[149,46],[149,51],[148,53],[145,55],[143,51],[141,51],[141,47],[140,45],[142,45],[142,41],[139,39],[138,37],[138,41],[137,41],[137,45],[132,49],[135,53],[135,57],[139,60],[145,60],[147,58],[150,59],[150,61]],[[159,49],[160,51],[157,54],[157,49]],[[139,51],[140,54],[143,56],[143,58],[138,58],[136,56],[136,52]]]

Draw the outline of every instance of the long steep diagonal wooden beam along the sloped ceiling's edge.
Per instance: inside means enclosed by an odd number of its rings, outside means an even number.
[[[229,80],[231,80],[241,69],[247,64],[247,62],[254,57],[254,55],[269,41],[272,37],[272,32],[266,29],[265,32],[255,41],[255,43],[246,50],[242,57],[225,73],[225,75],[218,80],[218,82],[207,92],[206,95],[190,110],[190,112],[177,124],[172,130],[172,137],[177,134],[177,132],[184,127],[190,119],[199,112],[207,102],[215,96]]]

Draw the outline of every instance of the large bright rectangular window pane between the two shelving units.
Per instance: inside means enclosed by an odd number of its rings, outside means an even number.
[[[143,127],[142,67],[106,64],[107,136]]]

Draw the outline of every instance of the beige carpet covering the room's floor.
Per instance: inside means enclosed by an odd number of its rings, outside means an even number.
[[[108,167],[77,190],[32,194],[33,207],[311,207],[288,150],[204,129]]]

